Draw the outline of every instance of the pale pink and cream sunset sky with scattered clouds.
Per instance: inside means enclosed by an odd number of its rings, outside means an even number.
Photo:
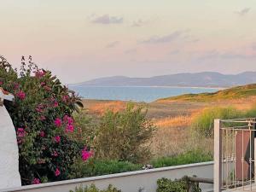
[[[65,84],[256,71],[255,0],[1,0],[0,55]]]

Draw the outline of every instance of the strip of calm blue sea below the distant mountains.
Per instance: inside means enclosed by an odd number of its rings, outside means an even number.
[[[154,102],[160,98],[189,93],[215,92],[220,88],[167,87],[167,86],[79,86],[69,85],[84,99]]]

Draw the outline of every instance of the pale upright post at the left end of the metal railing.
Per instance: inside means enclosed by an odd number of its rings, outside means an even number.
[[[222,131],[220,119],[214,119],[214,192],[222,187]]]

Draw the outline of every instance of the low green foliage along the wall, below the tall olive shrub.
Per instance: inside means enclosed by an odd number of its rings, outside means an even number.
[[[142,165],[128,161],[90,159],[85,164],[81,160],[73,165],[70,178],[93,177],[119,172],[133,172],[142,169]]]

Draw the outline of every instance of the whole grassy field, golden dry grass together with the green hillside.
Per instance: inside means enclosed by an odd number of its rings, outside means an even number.
[[[106,110],[123,110],[127,102],[84,100],[87,113],[95,118]],[[212,152],[211,138],[194,137],[191,124],[207,108],[235,108],[241,112],[256,107],[256,84],[239,86],[215,93],[174,96],[150,103],[140,103],[148,108],[148,118],[158,129],[152,139],[155,157],[182,154],[193,148]]]

